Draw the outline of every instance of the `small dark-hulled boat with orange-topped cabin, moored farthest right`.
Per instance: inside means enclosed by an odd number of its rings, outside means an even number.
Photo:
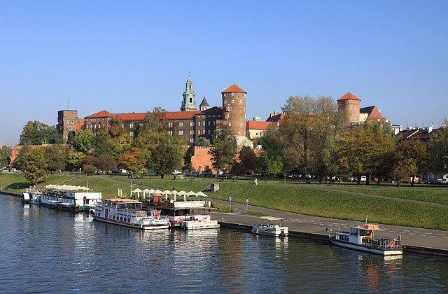
[[[398,239],[374,239],[378,225],[365,223],[363,226],[351,226],[350,232],[335,232],[331,242],[337,246],[352,248],[380,255],[401,255],[402,243]]]

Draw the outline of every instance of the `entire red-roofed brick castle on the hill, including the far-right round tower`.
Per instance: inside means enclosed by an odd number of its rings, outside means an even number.
[[[234,83],[221,92],[222,106],[210,107],[204,97],[197,110],[195,101],[195,90],[193,81],[188,75],[186,87],[182,94],[180,111],[167,111],[165,120],[167,121],[167,132],[171,135],[179,135],[188,144],[202,137],[211,139],[216,128],[223,123],[228,125],[232,131],[237,146],[253,146],[251,139],[261,137],[270,128],[279,127],[284,118],[283,113],[271,113],[266,121],[261,121],[259,117],[246,121],[246,97],[247,92]],[[352,126],[366,121],[381,121],[389,123],[377,106],[360,108],[361,100],[351,92],[347,92],[337,99],[337,111],[342,113],[344,125]],[[140,113],[110,113],[109,111],[99,111],[84,119],[78,118],[77,111],[63,110],[58,112],[57,131],[65,138],[70,131],[92,130],[97,132],[109,127],[112,118],[122,118],[123,128],[131,136],[141,127],[148,112]]]

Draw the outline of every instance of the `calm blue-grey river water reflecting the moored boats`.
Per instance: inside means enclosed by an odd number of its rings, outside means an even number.
[[[447,293],[448,260],[205,230],[144,232],[0,196],[2,293]]]

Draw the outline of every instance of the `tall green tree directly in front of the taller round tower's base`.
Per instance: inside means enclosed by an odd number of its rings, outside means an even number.
[[[228,125],[221,124],[214,135],[213,148],[209,151],[212,165],[218,172],[229,172],[235,162],[237,143]]]

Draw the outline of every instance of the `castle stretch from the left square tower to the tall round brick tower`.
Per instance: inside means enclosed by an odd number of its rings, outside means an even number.
[[[222,93],[223,106],[210,107],[204,97],[197,110],[195,102],[195,90],[190,76],[183,91],[181,111],[167,111],[167,132],[171,135],[179,135],[190,145],[194,141],[204,137],[211,139],[212,134],[220,123],[228,125],[232,130],[237,146],[252,146],[252,142],[246,138],[246,91],[236,83],[228,87]],[[141,127],[147,112],[141,113],[110,113],[99,111],[84,119],[77,118],[77,111],[59,111],[57,131],[65,138],[71,130],[92,130],[98,132],[108,128],[112,118],[122,118],[123,128],[133,136],[134,132]],[[83,125],[80,125],[83,123]],[[76,127],[76,128],[75,128]]]

